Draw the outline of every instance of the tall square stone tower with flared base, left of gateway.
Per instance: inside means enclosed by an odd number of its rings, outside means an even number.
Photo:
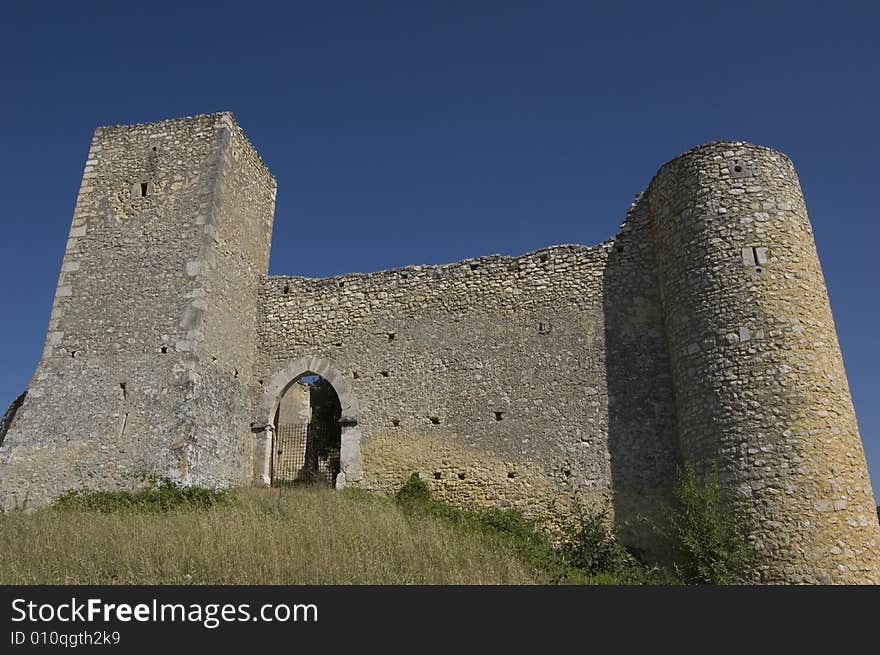
[[[95,131],[0,505],[249,480],[275,190],[229,113]]]

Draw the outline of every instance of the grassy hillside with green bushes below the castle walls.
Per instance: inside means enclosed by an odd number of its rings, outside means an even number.
[[[689,482],[690,480],[690,482]],[[326,488],[72,493],[0,513],[0,584],[668,584],[735,581],[715,486],[682,478],[675,575],[624,549],[607,513],[551,540],[512,510]],[[690,486],[689,486],[690,485]]]

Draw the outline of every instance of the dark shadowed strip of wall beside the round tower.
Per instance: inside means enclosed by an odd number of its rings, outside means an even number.
[[[675,397],[647,203],[639,196],[608,250],[602,293],[608,454],[623,540],[660,558],[678,464]],[[648,519],[647,522],[645,519]]]

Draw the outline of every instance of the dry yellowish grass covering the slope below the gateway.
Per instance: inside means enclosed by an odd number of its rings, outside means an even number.
[[[0,514],[0,584],[520,584],[479,535],[329,490],[236,492],[209,510]]]

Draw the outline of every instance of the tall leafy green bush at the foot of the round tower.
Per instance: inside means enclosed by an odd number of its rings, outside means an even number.
[[[670,524],[682,561],[683,579],[696,584],[740,582],[746,560],[741,526],[730,511],[716,469],[700,477],[690,466],[679,471],[677,506]]]

